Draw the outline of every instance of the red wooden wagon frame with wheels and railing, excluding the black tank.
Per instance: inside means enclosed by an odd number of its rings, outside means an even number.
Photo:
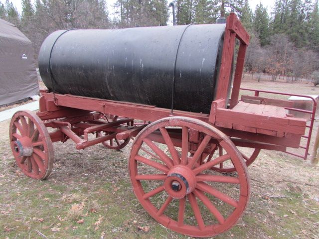
[[[236,38],[240,45],[228,102]],[[293,94],[251,89],[242,90],[254,91],[254,96],[239,100],[248,43],[249,35],[231,13],[209,114],[41,91],[39,112],[17,112],[10,123],[17,165],[27,176],[44,179],[53,166],[52,142],[71,139],[76,149],[98,143],[121,149],[135,137],[129,172],[145,210],[181,234],[210,237],[223,233],[238,221],[248,204],[247,166],[260,149],[307,159],[317,106],[316,100],[308,97],[313,100],[312,111],[295,109],[293,102],[259,97],[259,93]],[[310,123],[286,114],[286,110],[311,114]],[[47,127],[54,130],[49,132]],[[302,138],[307,141],[305,146],[300,145]],[[246,155],[237,147],[252,151]],[[289,148],[303,148],[305,153],[299,155]],[[159,204],[160,194],[165,197]]]

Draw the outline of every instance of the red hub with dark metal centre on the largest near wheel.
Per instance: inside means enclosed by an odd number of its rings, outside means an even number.
[[[164,181],[165,191],[172,198],[180,199],[191,193],[196,187],[192,170],[186,166],[172,167]]]

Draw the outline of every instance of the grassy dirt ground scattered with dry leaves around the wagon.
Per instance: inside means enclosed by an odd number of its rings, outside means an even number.
[[[319,87],[306,83],[248,78],[242,87],[319,95]],[[70,140],[54,143],[53,171],[37,181],[13,162],[8,131],[9,120],[0,122],[0,238],[190,238],[160,226],[136,199],[127,169],[131,143],[120,151],[101,144],[76,150]],[[319,166],[262,150],[249,175],[244,216],[216,239],[319,239]]]

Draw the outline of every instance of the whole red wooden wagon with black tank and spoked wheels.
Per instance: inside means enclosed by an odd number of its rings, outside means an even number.
[[[305,111],[260,97],[262,91],[239,100],[248,44],[233,13],[226,24],[52,33],[39,53],[48,88],[39,111],[11,119],[17,165],[45,179],[52,142],[121,149],[134,137],[128,169],[145,210],[181,234],[225,232],[247,207],[247,167],[261,149],[301,147],[304,155],[291,153],[306,159],[316,111],[315,99],[313,111]],[[288,110],[311,114],[310,123]]]

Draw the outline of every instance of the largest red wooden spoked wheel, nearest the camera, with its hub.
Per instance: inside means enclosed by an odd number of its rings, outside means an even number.
[[[181,139],[168,133],[170,127],[181,129]],[[190,129],[203,135],[193,153],[189,153]],[[226,154],[199,164],[211,141],[217,141]],[[210,170],[228,159],[236,177]],[[144,209],[168,229],[192,237],[211,237],[230,229],[249,200],[249,176],[241,153],[228,136],[197,119],[164,118],[144,128],[133,142],[129,171]]]

